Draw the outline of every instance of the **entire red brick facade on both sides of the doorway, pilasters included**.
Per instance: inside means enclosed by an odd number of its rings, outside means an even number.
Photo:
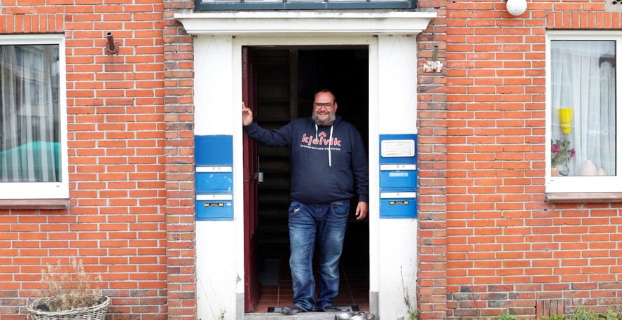
[[[622,304],[620,203],[544,195],[547,29],[622,29],[604,3],[420,0],[421,319]],[[26,319],[41,268],[80,256],[109,319],[196,318],[193,1],[0,3],[0,34],[63,33],[69,209],[0,209],[0,319]],[[106,55],[106,32],[120,45]],[[546,307],[548,305],[548,307]],[[539,307],[538,307],[539,306]],[[537,309],[539,308],[539,309]]]

